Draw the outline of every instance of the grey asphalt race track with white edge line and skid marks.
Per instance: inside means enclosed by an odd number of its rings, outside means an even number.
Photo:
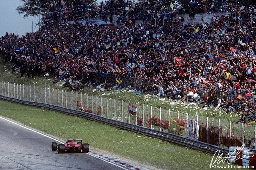
[[[0,169],[10,170],[123,170],[128,169],[88,153],[58,154],[52,142],[63,143],[0,117]],[[83,141],[83,143],[85,143]]]

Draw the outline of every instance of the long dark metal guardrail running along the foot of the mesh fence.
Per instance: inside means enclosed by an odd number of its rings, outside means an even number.
[[[178,143],[178,144],[181,144],[181,145],[184,145],[184,146],[188,146],[188,147],[198,149],[198,150],[203,150],[203,151],[206,151],[206,152],[215,153],[218,150],[220,151],[220,153],[223,153],[223,154],[228,154],[228,152],[229,152],[229,150],[227,148],[222,148],[220,146],[215,146],[215,145],[212,145],[212,144],[200,142],[198,140],[188,139],[188,138],[185,138],[185,137],[182,137],[182,136],[178,136],[176,134],[163,132],[163,131],[160,131],[160,130],[155,130],[155,129],[151,129],[151,128],[147,128],[147,127],[141,127],[141,126],[134,125],[134,124],[131,124],[131,123],[126,123],[126,122],[122,122],[122,121],[118,121],[118,120],[109,119],[109,118],[106,118],[106,117],[102,117],[102,116],[99,116],[99,115],[94,115],[92,113],[88,113],[88,112],[84,112],[84,111],[68,109],[68,108],[64,108],[64,107],[61,107],[61,106],[50,105],[50,104],[45,104],[45,103],[24,101],[24,100],[21,100],[21,99],[5,97],[3,95],[0,95],[0,99],[2,99],[4,101],[10,101],[10,102],[15,102],[15,103],[21,103],[21,104],[24,104],[24,105],[40,107],[40,108],[43,108],[43,109],[49,109],[49,110],[52,110],[52,111],[58,111],[58,112],[62,112],[62,113],[67,114],[67,115],[83,117],[85,119],[89,119],[89,120],[96,121],[96,122],[99,122],[99,123],[104,123],[106,125],[122,128],[124,130],[130,130],[132,132],[136,132],[136,133],[139,133],[139,134],[144,134],[144,135],[151,136],[151,137],[154,137],[154,138],[159,138],[159,139],[166,140],[166,141],[169,141],[169,142]]]

